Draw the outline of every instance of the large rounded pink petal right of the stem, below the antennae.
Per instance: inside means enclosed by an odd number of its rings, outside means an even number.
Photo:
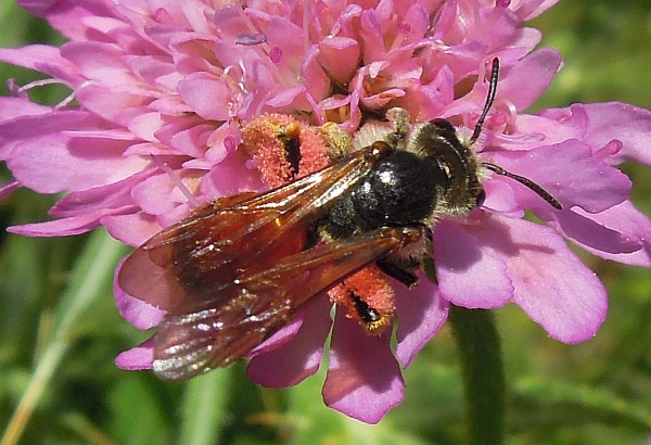
[[[553,229],[493,216],[469,230],[501,256],[514,302],[551,338],[578,343],[597,333],[608,310],[605,289]]]

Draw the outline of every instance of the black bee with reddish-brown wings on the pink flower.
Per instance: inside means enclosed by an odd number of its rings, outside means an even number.
[[[538,185],[481,163],[472,150],[498,76],[495,59],[486,103],[467,143],[449,120],[411,124],[405,110],[392,109],[386,122],[359,129],[357,140],[368,143],[347,151],[346,136],[332,137],[336,158],[323,168],[264,193],[217,199],[136,250],[118,284],[166,310],[154,335],[154,373],[183,380],[228,366],[329,290],[344,294],[340,301],[348,301],[369,333],[381,332],[393,313],[342,283],[360,270],[379,269],[417,285],[432,225],[483,204],[485,169],[562,208]],[[278,139],[297,152],[295,127]],[[298,168],[295,157],[292,171]]]

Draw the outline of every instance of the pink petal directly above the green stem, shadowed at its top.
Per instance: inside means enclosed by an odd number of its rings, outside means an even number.
[[[484,219],[489,219],[486,217]],[[483,225],[484,220],[477,223]],[[442,220],[434,227],[434,264],[441,295],[469,308],[493,308],[513,297],[501,255],[484,249],[474,226]]]

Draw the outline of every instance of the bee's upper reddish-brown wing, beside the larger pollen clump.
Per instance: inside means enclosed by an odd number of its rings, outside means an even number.
[[[129,295],[170,314],[195,312],[242,275],[269,269],[303,251],[316,218],[371,167],[360,150],[297,181],[199,208],[152,237],[124,263],[118,284]]]

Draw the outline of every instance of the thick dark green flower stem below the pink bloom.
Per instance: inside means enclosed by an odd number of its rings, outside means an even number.
[[[451,306],[448,320],[459,349],[470,445],[505,441],[505,373],[489,310]]]

